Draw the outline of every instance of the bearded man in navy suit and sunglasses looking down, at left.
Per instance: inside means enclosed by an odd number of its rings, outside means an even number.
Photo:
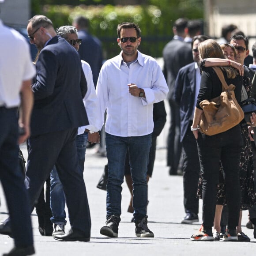
[[[43,15],[29,20],[27,32],[30,43],[40,50],[32,84],[34,108],[25,180],[31,211],[55,165],[66,196],[71,230],[54,239],[90,241],[90,210],[75,146],[77,128],[88,124],[83,105],[87,83],[80,57],[72,45],[56,35],[53,23]],[[0,233],[7,227],[8,222],[2,224]]]

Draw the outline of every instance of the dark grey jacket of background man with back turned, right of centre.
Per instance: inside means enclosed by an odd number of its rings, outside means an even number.
[[[174,84],[180,68],[193,62],[191,46],[183,41],[173,39],[163,49],[163,73],[169,87],[168,99],[173,99]]]

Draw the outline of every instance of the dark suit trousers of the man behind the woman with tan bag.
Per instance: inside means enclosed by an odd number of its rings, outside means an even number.
[[[183,190],[185,212],[191,211],[198,214],[199,199],[196,196],[200,162],[197,151],[196,139],[190,130],[190,125],[184,139],[183,146]]]

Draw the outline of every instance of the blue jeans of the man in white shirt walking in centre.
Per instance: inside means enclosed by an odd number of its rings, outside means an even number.
[[[121,192],[124,182],[124,163],[127,151],[133,181],[134,219],[141,220],[147,212],[147,165],[151,148],[151,134],[119,137],[106,133],[106,151],[109,164],[107,184],[107,218],[121,215]]]

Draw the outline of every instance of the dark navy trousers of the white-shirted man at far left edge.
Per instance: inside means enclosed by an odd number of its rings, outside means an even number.
[[[0,181],[16,247],[33,245],[28,193],[19,169],[17,109],[0,107]]]

